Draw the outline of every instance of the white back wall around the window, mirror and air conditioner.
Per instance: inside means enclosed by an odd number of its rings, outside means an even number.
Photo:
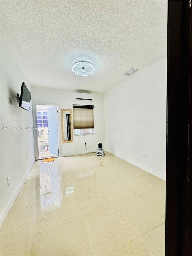
[[[61,156],[75,155],[85,153],[85,145],[88,151],[95,151],[98,149],[98,143],[104,144],[104,94],[94,93],[94,101],[75,101],[74,91],[48,89],[32,86],[33,103],[35,104],[59,104],[60,109],[73,109],[73,104],[94,105],[94,126],[95,135],[74,136],[73,142],[61,143]],[[35,109],[35,105],[34,105]],[[61,119],[61,112],[59,109],[59,118]],[[100,112],[100,110],[103,110]],[[59,122],[59,129],[61,131],[61,122]],[[60,133],[61,141],[61,133]]]

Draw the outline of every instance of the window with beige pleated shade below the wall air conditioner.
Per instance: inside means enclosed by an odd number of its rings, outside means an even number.
[[[93,134],[94,129],[94,106],[73,105],[73,128],[74,134]]]

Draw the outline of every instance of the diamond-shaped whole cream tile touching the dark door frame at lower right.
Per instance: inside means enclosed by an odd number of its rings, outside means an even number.
[[[137,237],[164,223],[164,217],[140,197],[117,204],[116,209]]]

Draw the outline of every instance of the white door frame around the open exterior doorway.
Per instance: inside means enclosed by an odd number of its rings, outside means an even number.
[[[61,110],[60,110],[60,104],[50,104],[50,103],[37,103],[35,102],[33,104],[33,123],[34,126],[37,127],[37,105],[44,105],[44,106],[57,106],[58,108],[58,146],[59,146],[59,155],[55,157],[61,157]],[[35,160],[39,160],[39,152],[38,152],[38,129],[33,130],[33,136],[34,136],[34,151],[35,151]],[[41,158],[43,159],[43,158]]]

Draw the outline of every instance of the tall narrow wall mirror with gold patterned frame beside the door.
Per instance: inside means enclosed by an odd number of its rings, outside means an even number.
[[[72,109],[61,109],[62,143],[73,142]]]

